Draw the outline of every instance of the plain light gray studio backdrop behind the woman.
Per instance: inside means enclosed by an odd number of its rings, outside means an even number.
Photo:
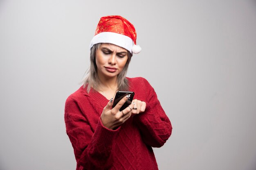
[[[1,0],[0,169],[75,169],[65,100],[106,15],[135,25],[128,76],[148,79],[172,122],[159,169],[255,170],[255,0]]]

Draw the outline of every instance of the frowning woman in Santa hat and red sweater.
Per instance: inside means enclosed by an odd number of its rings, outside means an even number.
[[[171,122],[146,79],[126,72],[136,45],[134,26],[121,16],[101,17],[90,44],[90,70],[84,85],[65,105],[65,124],[76,170],[157,170],[152,147],[170,137]],[[117,91],[135,92],[112,108]]]

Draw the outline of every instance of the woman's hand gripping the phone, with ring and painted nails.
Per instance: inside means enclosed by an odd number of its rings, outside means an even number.
[[[123,124],[128,118],[130,118],[132,114],[133,104],[130,104],[123,111],[119,111],[119,109],[124,105],[124,103],[130,98],[130,94],[124,96],[117,105],[110,109],[113,105],[113,98],[108,102],[106,107],[104,107],[101,113],[101,122],[103,126],[108,129],[115,129],[116,127]]]

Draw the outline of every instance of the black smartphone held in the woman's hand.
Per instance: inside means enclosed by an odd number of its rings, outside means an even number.
[[[132,99],[134,97],[134,92],[122,92],[122,91],[118,91],[116,93],[116,96],[115,96],[115,99],[114,99],[114,102],[113,102],[113,105],[112,105],[112,108],[115,107],[117,105],[117,103],[122,99],[124,98],[124,96],[127,96],[127,95],[131,95],[130,98],[124,103],[124,105],[119,109],[119,111],[122,111],[124,110],[126,107],[128,107],[130,104],[132,104]]]

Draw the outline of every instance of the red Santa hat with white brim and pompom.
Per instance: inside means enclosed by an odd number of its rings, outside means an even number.
[[[128,20],[119,15],[110,15],[99,20],[90,48],[98,43],[111,43],[138,54],[141,48],[136,45],[136,38],[135,28]]]

